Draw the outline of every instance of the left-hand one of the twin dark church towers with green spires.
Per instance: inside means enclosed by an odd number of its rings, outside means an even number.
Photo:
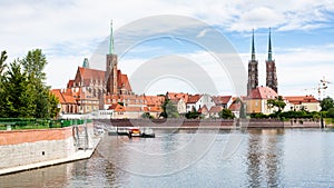
[[[254,29],[252,36],[252,59],[248,61],[248,83],[247,83],[247,96],[250,95],[252,90],[258,86],[258,61],[255,58],[255,46],[254,46]]]

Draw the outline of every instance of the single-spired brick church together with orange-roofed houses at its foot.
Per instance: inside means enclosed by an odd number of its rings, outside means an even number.
[[[143,112],[159,115],[164,99],[155,96],[135,95],[128,76],[118,69],[118,58],[114,51],[111,23],[106,70],[91,68],[86,58],[82,66],[78,67],[75,79],[68,81],[66,89],[51,90],[60,100],[61,115],[89,113],[109,109],[115,111],[120,108],[117,107],[119,103],[121,103],[122,110],[132,111],[136,117]],[[124,115],[124,112],[120,113]]]

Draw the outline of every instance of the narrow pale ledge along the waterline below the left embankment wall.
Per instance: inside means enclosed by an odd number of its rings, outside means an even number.
[[[85,150],[78,150],[73,155],[62,158],[62,159],[55,159],[55,160],[48,160],[48,161],[42,161],[42,162],[37,162],[37,164],[30,164],[30,165],[24,165],[24,166],[18,166],[18,167],[11,167],[11,168],[6,168],[6,169],[0,169],[0,175],[7,175],[7,174],[13,174],[13,172],[19,172],[19,171],[26,171],[26,170],[31,170],[31,169],[37,169],[37,168],[42,168],[42,167],[48,167],[48,166],[53,166],[53,165],[59,165],[59,164],[66,164],[66,162],[71,162],[76,160],[82,160],[82,159],[89,159],[97,145],[99,144],[100,138],[94,138],[92,139],[92,148],[86,149]]]

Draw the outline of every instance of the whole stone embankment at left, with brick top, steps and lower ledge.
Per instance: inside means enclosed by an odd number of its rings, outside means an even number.
[[[0,175],[90,158],[98,141],[92,123],[0,131]]]

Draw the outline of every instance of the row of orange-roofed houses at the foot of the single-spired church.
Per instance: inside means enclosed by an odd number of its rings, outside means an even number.
[[[158,118],[165,101],[163,96],[104,95],[104,99],[94,97],[82,88],[52,89],[59,99],[60,117],[94,113],[97,118],[130,119],[141,118],[143,113]]]

